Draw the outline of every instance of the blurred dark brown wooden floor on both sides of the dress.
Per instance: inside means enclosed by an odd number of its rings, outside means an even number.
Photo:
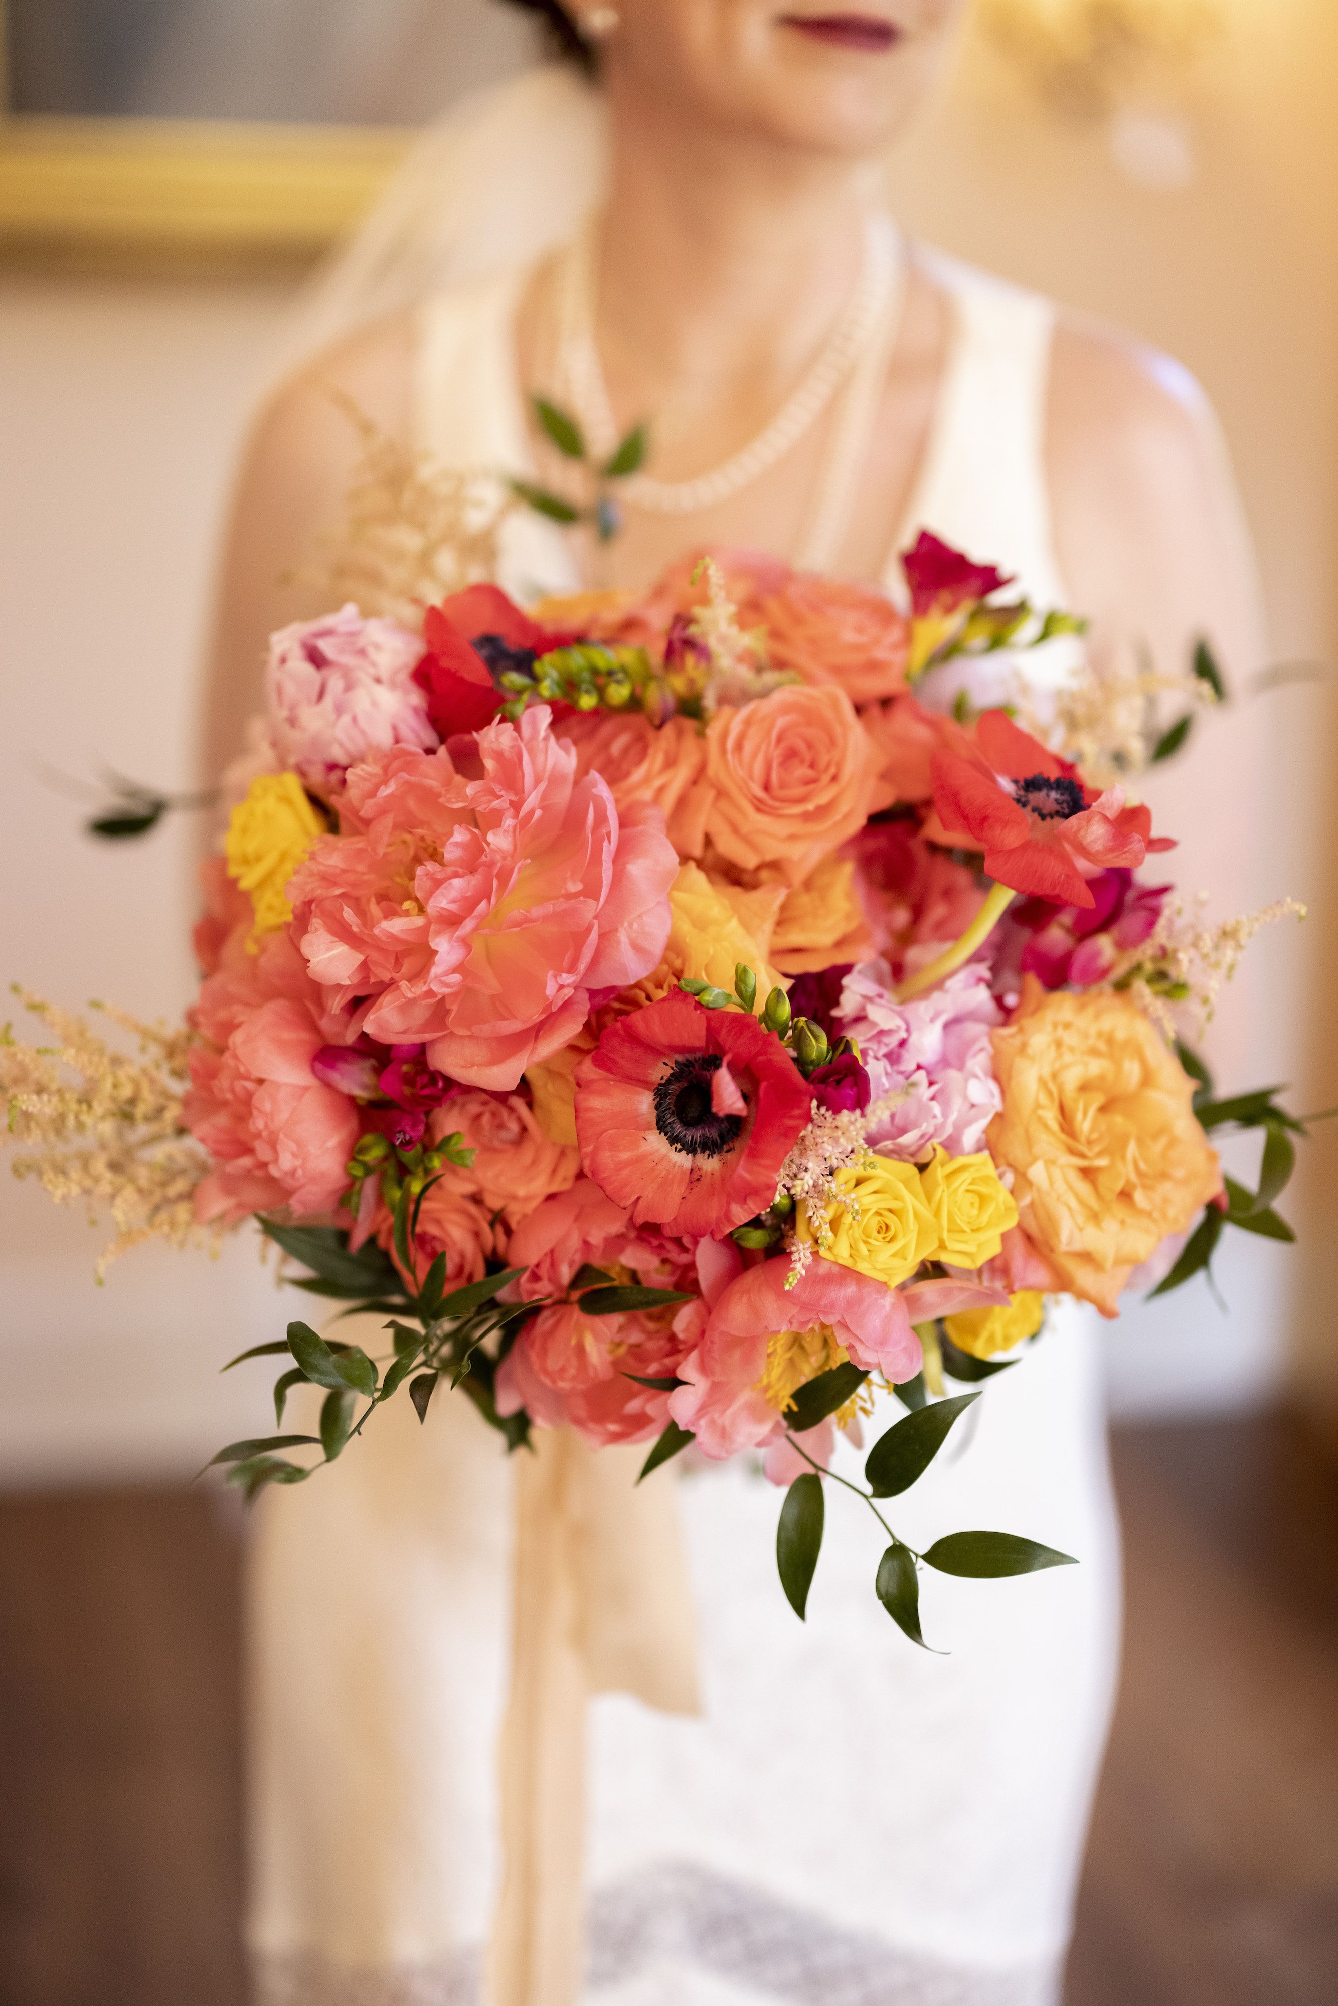
[[[1069,2006],[1338,2000],[1338,1472],[1286,1418],[1123,1430],[1125,1683]],[[243,2006],[239,1533],[0,1498],[0,2006]]]

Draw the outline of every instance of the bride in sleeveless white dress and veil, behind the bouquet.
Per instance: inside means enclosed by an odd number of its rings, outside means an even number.
[[[427,142],[329,281],[313,329],[339,339],[253,431],[223,570],[221,756],[267,634],[323,610],[275,578],[351,471],[329,385],[445,463],[544,485],[566,473],[530,393],[600,449],[652,419],[610,544],[508,522],[518,596],[640,588],[698,544],[895,592],[923,526],[1091,616],[1097,666],[1143,644],[1180,668],[1200,634],[1228,664],[1260,658],[1230,477],[1186,375],[907,245],[881,207],[887,146],[963,0],[518,4],[572,64]],[[1069,666],[1037,664],[1051,682]],[[909,1537],[915,1513],[937,1529],[951,1513],[1083,1563],[997,1593],[927,1583],[947,1657],[887,1621],[855,1527],[798,1625],[768,1575],[776,1494],[730,1468],[592,1507],[644,1563],[614,1599],[626,1631],[644,1625],[640,1671],[602,1671],[570,1609],[536,1659],[556,1492],[536,1502],[518,1472],[534,1458],[508,1462],[465,1402],[439,1400],[421,1430],[395,1402],[319,1482],[267,1498],[265,2006],[1055,2002],[1117,1651],[1099,1344],[1083,1314],[1055,1320],[915,1494]],[[690,1655],[692,1617],[658,1517],[674,1492],[700,1629],[682,1677],[668,1661]],[[578,1659],[572,1705],[558,1687]]]

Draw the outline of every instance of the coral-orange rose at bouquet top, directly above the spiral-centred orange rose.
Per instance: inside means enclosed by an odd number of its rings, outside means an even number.
[[[834,684],[853,704],[895,696],[907,680],[911,624],[867,586],[796,574],[762,600],[766,656],[812,684]]]

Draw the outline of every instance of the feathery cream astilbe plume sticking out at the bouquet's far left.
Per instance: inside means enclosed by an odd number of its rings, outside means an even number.
[[[181,1099],[189,1085],[189,1031],[142,1025],[116,1009],[106,1017],[138,1043],[138,1057],[116,1051],[72,1011],[14,987],[54,1045],[22,1045],[0,1033],[0,1095],[10,1135],[32,1143],[16,1178],[36,1178],[58,1204],[88,1206],[90,1224],[106,1212],[116,1238],[98,1260],[98,1278],[118,1254],[144,1240],[171,1246],[217,1244],[195,1224],[195,1188],[209,1169],[185,1133]],[[94,1005],[94,1009],[100,1005]]]

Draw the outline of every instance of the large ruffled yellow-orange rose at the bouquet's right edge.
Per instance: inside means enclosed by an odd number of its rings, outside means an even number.
[[[993,1045],[1003,1113],[989,1149],[1013,1169],[1021,1226],[1073,1296],[1117,1316],[1133,1268],[1222,1188],[1194,1083],[1111,991],[1047,995],[1027,977]]]

